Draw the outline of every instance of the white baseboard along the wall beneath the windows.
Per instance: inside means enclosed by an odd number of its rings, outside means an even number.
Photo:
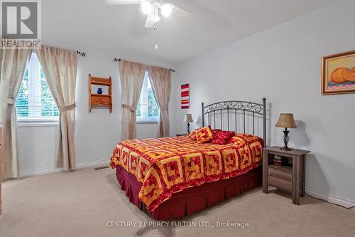
[[[109,166],[109,159],[102,159],[94,162],[82,162],[76,164],[77,169],[84,169],[89,167],[103,167],[103,166]],[[63,168],[55,168],[55,167],[26,170],[26,171],[20,171],[20,177],[28,177],[28,176],[34,176],[40,174],[50,174],[55,172],[61,172],[63,170],[64,170]]]

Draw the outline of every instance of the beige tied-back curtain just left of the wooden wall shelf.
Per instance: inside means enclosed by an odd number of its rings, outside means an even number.
[[[53,99],[60,110],[58,122],[57,167],[75,169],[75,83],[77,54],[50,46],[35,49]]]

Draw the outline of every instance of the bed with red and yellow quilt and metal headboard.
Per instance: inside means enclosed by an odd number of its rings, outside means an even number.
[[[202,103],[201,116],[202,127],[235,131],[233,142],[197,144],[181,136],[127,140],[114,148],[110,164],[121,189],[155,219],[189,216],[261,185],[266,99]]]

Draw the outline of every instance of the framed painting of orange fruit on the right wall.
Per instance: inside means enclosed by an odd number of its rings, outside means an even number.
[[[322,95],[355,93],[355,51],[322,58]]]

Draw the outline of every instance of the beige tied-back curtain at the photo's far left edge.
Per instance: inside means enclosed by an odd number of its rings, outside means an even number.
[[[0,122],[3,128],[3,174],[4,179],[18,177],[16,98],[20,90],[31,48],[18,48],[16,42],[2,38],[11,47],[0,50]],[[1,46],[0,46],[1,47]]]

